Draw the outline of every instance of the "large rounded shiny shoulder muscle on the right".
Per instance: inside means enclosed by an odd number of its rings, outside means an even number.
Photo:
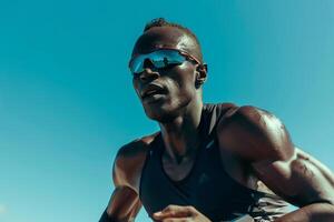
[[[287,160],[294,152],[283,122],[253,105],[230,109],[220,119],[217,134],[223,147],[249,161]]]

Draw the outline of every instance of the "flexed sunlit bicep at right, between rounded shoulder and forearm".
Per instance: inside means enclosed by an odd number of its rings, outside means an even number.
[[[293,204],[334,203],[333,174],[299,150],[295,149],[289,160],[256,161],[252,165],[259,180]]]

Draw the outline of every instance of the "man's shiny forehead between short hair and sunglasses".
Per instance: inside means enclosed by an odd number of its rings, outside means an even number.
[[[194,40],[183,30],[175,27],[154,27],[137,40],[132,56],[147,53],[160,48],[180,49],[191,53]]]

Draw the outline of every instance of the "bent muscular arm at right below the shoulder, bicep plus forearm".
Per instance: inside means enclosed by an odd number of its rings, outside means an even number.
[[[334,221],[333,175],[322,163],[297,149],[291,160],[269,162],[253,163],[258,178],[278,195],[299,206],[276,222]]]

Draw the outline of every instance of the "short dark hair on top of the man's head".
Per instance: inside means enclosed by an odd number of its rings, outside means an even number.
[[[156,18],[156,19],[153,19],[151,21],[149,21],[148,23],[146,23],[143,33],[155,27],[175,27],[177,29],[180,29],[185,33],[189,34],[195,40],[196,44],[198,44],[198,48],[200,49],[199,41],[198,41],[197,37],[194,34],[194,32],[190,31],[190,29],[188,29],[179,23],[168,22],[164,18]]]

